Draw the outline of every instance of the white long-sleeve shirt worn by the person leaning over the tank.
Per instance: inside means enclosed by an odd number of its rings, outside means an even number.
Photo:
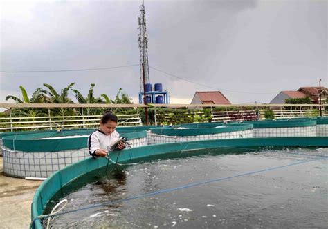
[[[90,155],[93,157],[99,157],[98,155],[95,155],[95,150],[102,149],[109,151],[111,149],[111,143],[119,138],[120,135],[116,130],[114,130],[114,132],[110,135],[105,135],[101,130],[95,130],[95,132],[93,132],[88,138]]]

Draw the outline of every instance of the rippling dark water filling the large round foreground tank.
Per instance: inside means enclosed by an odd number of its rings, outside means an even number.
[[[226,146],[109,164],[60,189],[44,214],[67,199],[50,226],[326,228],[327,157],[320,147]]]

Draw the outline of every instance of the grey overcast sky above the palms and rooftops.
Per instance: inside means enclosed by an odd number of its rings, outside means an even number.
[[[3,71],[138,65],[141,3],[1,1],[0,102],[19,97],[19,86],[31,95],[76,82],[84,96],[95,83],[96,96],[122,88],[138,103],[140,66]],[[150,82],[163,83],[171,103],[212,90],[231,103],[268,103],[319,79],[327,87],[327,9],[325,0],[146,0]]]

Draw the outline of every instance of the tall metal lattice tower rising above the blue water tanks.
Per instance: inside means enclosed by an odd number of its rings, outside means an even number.
[[[145,6],[140,6],[140,16],[138,17],[138,23],[140,30],[139,33],[139,48],[140,48],[140,92],[143,92],[143,66],[145,70],[145,83],[150,83],[149,80],[149,66],[148,66],[148,39],[146,30],[146,18],[145,18]]]

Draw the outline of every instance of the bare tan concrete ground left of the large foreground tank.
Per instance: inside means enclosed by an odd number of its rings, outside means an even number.
[[[0,228],[28,228],[30,203],[42,181],[6,177],[0,157]]]

